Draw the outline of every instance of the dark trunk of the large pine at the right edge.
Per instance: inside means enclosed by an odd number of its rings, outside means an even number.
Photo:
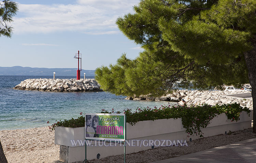
[[[253,132],[256,133],[256,41],[252,41],[254,48],[244,53],[248,69],[248,77],[252,86],[253,97]]]

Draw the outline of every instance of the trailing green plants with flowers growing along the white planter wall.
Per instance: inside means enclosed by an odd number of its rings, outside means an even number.
[[[154,107],[153,109],[148,107],[144,109],[137,108],[135,112],[127,109],[124,110],[124,114],[126,115],[126,122],[130,123],[131,125],[135,125],[138,121],[144,120],[182,118],[182,125],[189,135],[196,134],[200,135],[200,137],[203,137],[201,128],[207,127],[210,124],[210,120],[215,116],[225,113],[228,119],[231,119],[231,121],[238,121],[242,111],[247,112],[247,114],[250,116],[250,110],[246,107],[241,107],[240,104],[237,103],[223,104],[221,106],[203,104],[192,107],[183,107],[180,105],[161,105],[160,108]],[[113,112],[114,109],[112,109],[112,112],[102,110],[101,113],[111,114]],[[56,126],[73,128],[84,127],[85,118],[81,116],[77,119],[71,118],[70,120],[60,120],[50,126],[49,129],[52,131]]]

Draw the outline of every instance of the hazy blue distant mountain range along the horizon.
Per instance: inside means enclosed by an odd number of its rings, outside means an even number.
[[[0,67],[0,75],[31,75],[31,76],[52,76],[56,72],[56,76],[76,76],[77,68],[32,68],[32,67]],[[95,76],[95,70],[81,71],[81,76]]]

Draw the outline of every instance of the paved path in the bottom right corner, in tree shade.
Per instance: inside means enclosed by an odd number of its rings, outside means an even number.
[[[153,163],[256,163],[256,138]]]

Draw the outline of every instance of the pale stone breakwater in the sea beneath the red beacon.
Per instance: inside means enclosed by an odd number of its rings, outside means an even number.
[[[26,79],[14,89],[53,92],[102,91],[95,79]]]

